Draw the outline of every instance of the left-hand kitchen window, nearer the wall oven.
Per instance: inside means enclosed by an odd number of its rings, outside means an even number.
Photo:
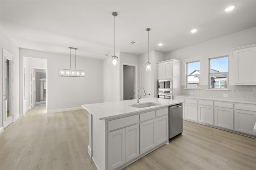
[[[200,61],[186,63],[186,88],[200,88]]]

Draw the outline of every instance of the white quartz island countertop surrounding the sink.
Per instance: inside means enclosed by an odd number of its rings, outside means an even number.
[[[143,98],[139,100],[139,103],[158,103],[160,105],[150,106],[144,108],[136,108],[129,105],[137,104],[137,99],[134,100],[124,100],[116,102],[104,102],[96,104],[84,104],[82,107],[86,109],[90,114],[98,117],[98,119],[109,119],[113,117],[129,115],[132,113],[139,113],[142,111],[148,111],[152,109],[158,109],[161,107],[168,107],[176,104],[183,103],[182,100],[170,100],[162,98]]]

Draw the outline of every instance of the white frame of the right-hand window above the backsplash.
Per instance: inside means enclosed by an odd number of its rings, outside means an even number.
[[[216,73],[210,73],[211,72],[211,60],[213,59],[221,59],[221,58],[225,58],[227,57],[228,59],[228,55],[224,55],[224,56],[220,56],[220,57],[214,57],[214,58],[209,58],[208,59],[208,89],[210,90],[227,90],[228,89],[228,71],[227,72],[216,72]],[[229,64],[228,64],[229,65]],[[228,69],[228,68],[227,68]],[[229,70],[229,69],[228,69]],[[219,80],[219,82],[224,81],[224,88],[211,88],[211,75],[218,75],[218,74],[227,74],[227,88],[225,88],[225,80]],[[219,86],[221,86],[221,84],[219,84]]]

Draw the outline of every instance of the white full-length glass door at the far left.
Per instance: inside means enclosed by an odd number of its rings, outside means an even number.
[[[6,128],[13,122],[13,112],[12,112],[12,100],[13,100],[13,87],[12,87],[12,58],[13,55],[8,51],[3,49],[3,59],[4,59],[4,76],[3,76],[3,94],[4,94],[4,104],[3,104],[3,126]]]

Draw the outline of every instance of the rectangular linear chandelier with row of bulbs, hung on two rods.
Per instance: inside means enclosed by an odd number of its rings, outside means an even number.
[[[68,47],[70,49],[70,69],[61,69],[59,68],[59,76],[64,77],[86,77],[85,70],[76,70],[76,50],[77,48]],[[71,49],[75,50],[75,69],[71,70]]]

